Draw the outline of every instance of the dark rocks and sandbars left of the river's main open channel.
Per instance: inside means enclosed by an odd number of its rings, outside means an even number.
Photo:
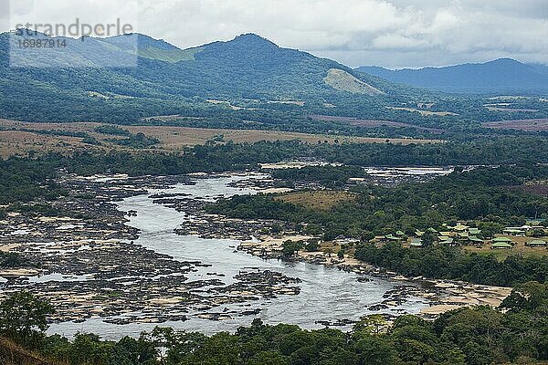
[[[24,289],[45,297],[56,308],[55,322],[163,323],[190,313],[221,319],[205,312],[299,294],[298,278],[249,268],[227,285],[211,265],[175,260],[135,242],[141,232],[128,222],[137,212],[122,212],[116,202],[175,183],[193,186],[191,177],[67,175],[58,183],[70,194],[52,202],[47,215],[10,213],[0,222],[0,250],[19,253],[28,265],[0,271],[6,279],[0,296]],[[204,270],[204,278],[189,278]],[[247,308],[236,313],[250,314]]]

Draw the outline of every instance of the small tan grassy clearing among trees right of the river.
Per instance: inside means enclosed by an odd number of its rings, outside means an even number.
[[[342,202],[351,202],[356,198],[354,193],[318,190],[313,192],[283,193],[276,199],[286,203],[304,206],[312,210],[329,210]]]

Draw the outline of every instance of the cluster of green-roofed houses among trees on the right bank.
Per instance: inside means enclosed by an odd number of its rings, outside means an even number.
[[[492,240],[484,240],[480,238],[481,230],[474,227],[469,227],[464,224],[457,224],[450,226],[444,224],[443,231],[437,231],[434,228],[428,228],[425,232],[416,230],[414,235],[408,241],[410,247],[422,247],[426,241],[426,235],[428,235],[428,241],[437,243],[437,245],[485,245],[490,241],[490,248],[492,249],[510,249],[515,245],[514,240],[509,237],[495,237]],[[505,235],[513,235],[516,237],[525,237],[527,233],[532,229],[539,227],[532,225],[523,225],[521,227],[506,227],[503,231]],[[542,226],[540,228],[543,228]],[[434,238],[433,238],[434,237]],[[395,234],[390,235],[377,235],[374,237],[377,242],[404,242],[407,240],[407,235],[402,231],[397,231]],[[525,245],[532,247],[547,247],[548,243],[541,239],[533,240]]]

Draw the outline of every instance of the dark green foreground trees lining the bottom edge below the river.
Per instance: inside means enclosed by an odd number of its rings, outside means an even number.
[[[257,318],[234,334],[155,328],[139,339],[118,341],[92,334],[78,334],[73,341],[46,337],[51,308],[40,299],[15,296],[17,300],[10,297],[0,304],[0,336],[69,365],[489,365],[548,360],[548,287],[536,282],[516,287],[501,311],[460,308],[434,321],[406,315],[389,324],[382,315],[370,315],[345,333],[270,326]],[[13,316],[16,310],[35,315]],[[14,332],[16,326],[21,330]]]

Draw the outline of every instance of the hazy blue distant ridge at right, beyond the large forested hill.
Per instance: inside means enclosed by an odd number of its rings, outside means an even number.
[[[546,93],[548,67],[511,58],[446,68],[356,68],[360,72],[417,88],[458,93]]]

